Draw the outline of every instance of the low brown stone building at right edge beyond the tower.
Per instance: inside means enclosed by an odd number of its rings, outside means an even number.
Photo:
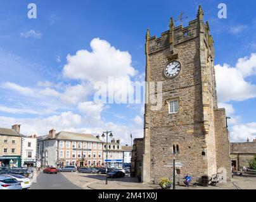
[[[231,164],[240,169],[249,167],[249,161],[256,155],[256,141],[230,144]]]

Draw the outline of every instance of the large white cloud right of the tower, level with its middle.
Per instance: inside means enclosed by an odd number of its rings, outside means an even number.
[[[216,83],[219,102],[243,101],[256,97],[256,85],[245,80],[255,74],[256,54],[238,60],[236,67],[216,65]]]

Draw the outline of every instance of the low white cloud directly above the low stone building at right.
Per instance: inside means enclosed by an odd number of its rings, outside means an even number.
[[[254,140],[256,138],[256,122],[233,126],[230,131],[230,138],[232,142],[245,142],[247,138],[250,141]]]

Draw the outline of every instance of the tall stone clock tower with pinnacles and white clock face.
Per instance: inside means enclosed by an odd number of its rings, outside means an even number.
[[[142,180],[171,177],[175,157],[181,177],[222,172],[229,181],[226,112],[217,107],[214,40],[202,7],[188,27],[174,27],[172,18],[169,27],[160,38],[146,33],[146,81],[162,81],[163,96],[160,110],[145,104]]]

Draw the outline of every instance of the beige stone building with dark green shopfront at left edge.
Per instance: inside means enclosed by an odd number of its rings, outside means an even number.
[[[21,167],[22,134],[20,125],[0,128],[0,167]]]

